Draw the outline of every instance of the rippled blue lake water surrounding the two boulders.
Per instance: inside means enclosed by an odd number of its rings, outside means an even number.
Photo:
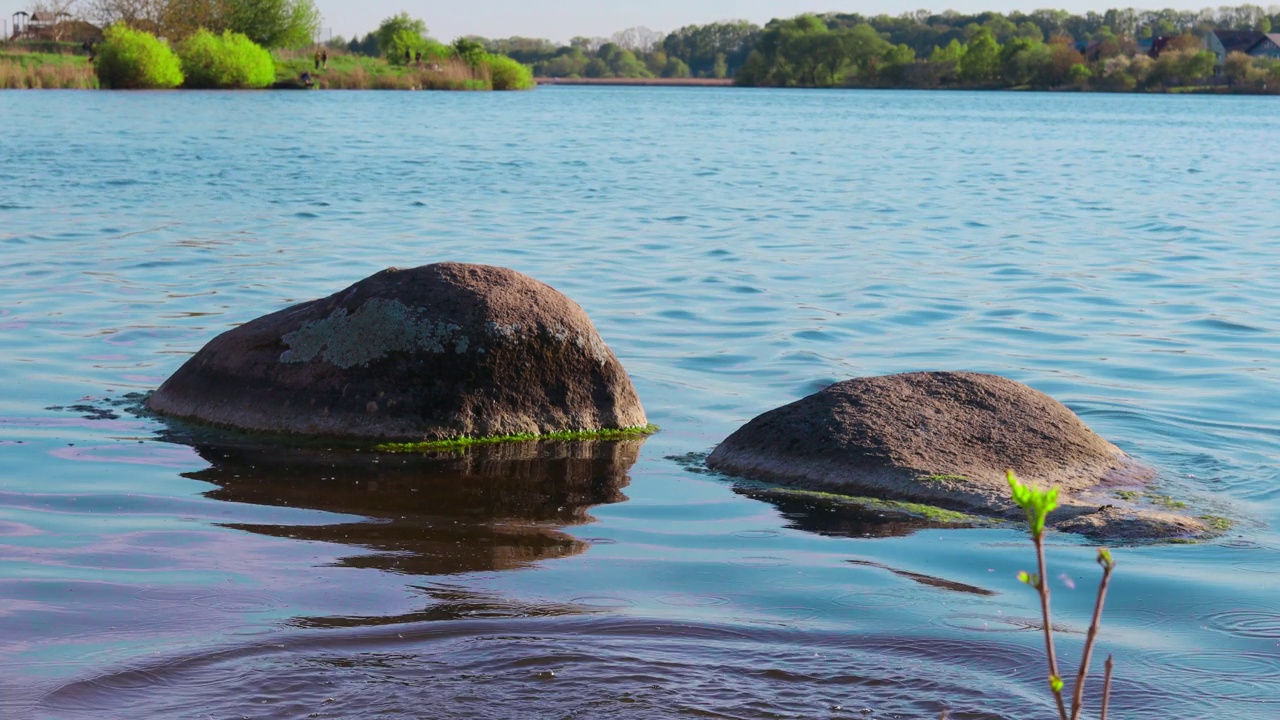
[[[833,380],[973,369],[1236,523],[1116,551],[1112,717],[1272,720],[1277,111],[3,92],[0,716],[1047,717],[1024,536],[671,459]],[[581,302],[664,432],[375,462],[113,406],[236,323],[438,260]],[[1051,564],[1074,665],[1097,569],[1078,538]]]

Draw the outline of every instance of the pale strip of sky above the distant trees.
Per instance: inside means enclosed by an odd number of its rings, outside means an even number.
[[[1234,4],[1235,0],[1231,0]],[[1243,0],[1242,0],[1243,1]],[[1161,0],[1160,6],[1199,8],[1220,5],[1208,0]],[[1267,3],[1263,3],[1267,4]],[[746,18],[764,23],[771,18],[791,17],[805,12],[838,10],[846,13],[899,14],[927,3],[895,3],[893,0],[466,0],[462,3],[429,3],[424,0],[316,0],[325,17],[325,28],[349,37],[365,33],[381,18],[406,10],[426,20],[431,35],[452,40],[461,35],[507,37],[524,35],[564,41],[575,35],[609,36],[614,31],[645,26],[672,31],[686,24],[701,24],[728,18]],[[1100,0],[952,0],[937,9],[960,12],[1024,10],[1061,8],[1075,13],[1103,10],[1110,6],[1143,5],[1138,3],[1106,3]],[[28,9],[31,0],[0,0],[0,18],[5,20],[17,10]],[[1143,5],[1144,6],[1144,5]]]

